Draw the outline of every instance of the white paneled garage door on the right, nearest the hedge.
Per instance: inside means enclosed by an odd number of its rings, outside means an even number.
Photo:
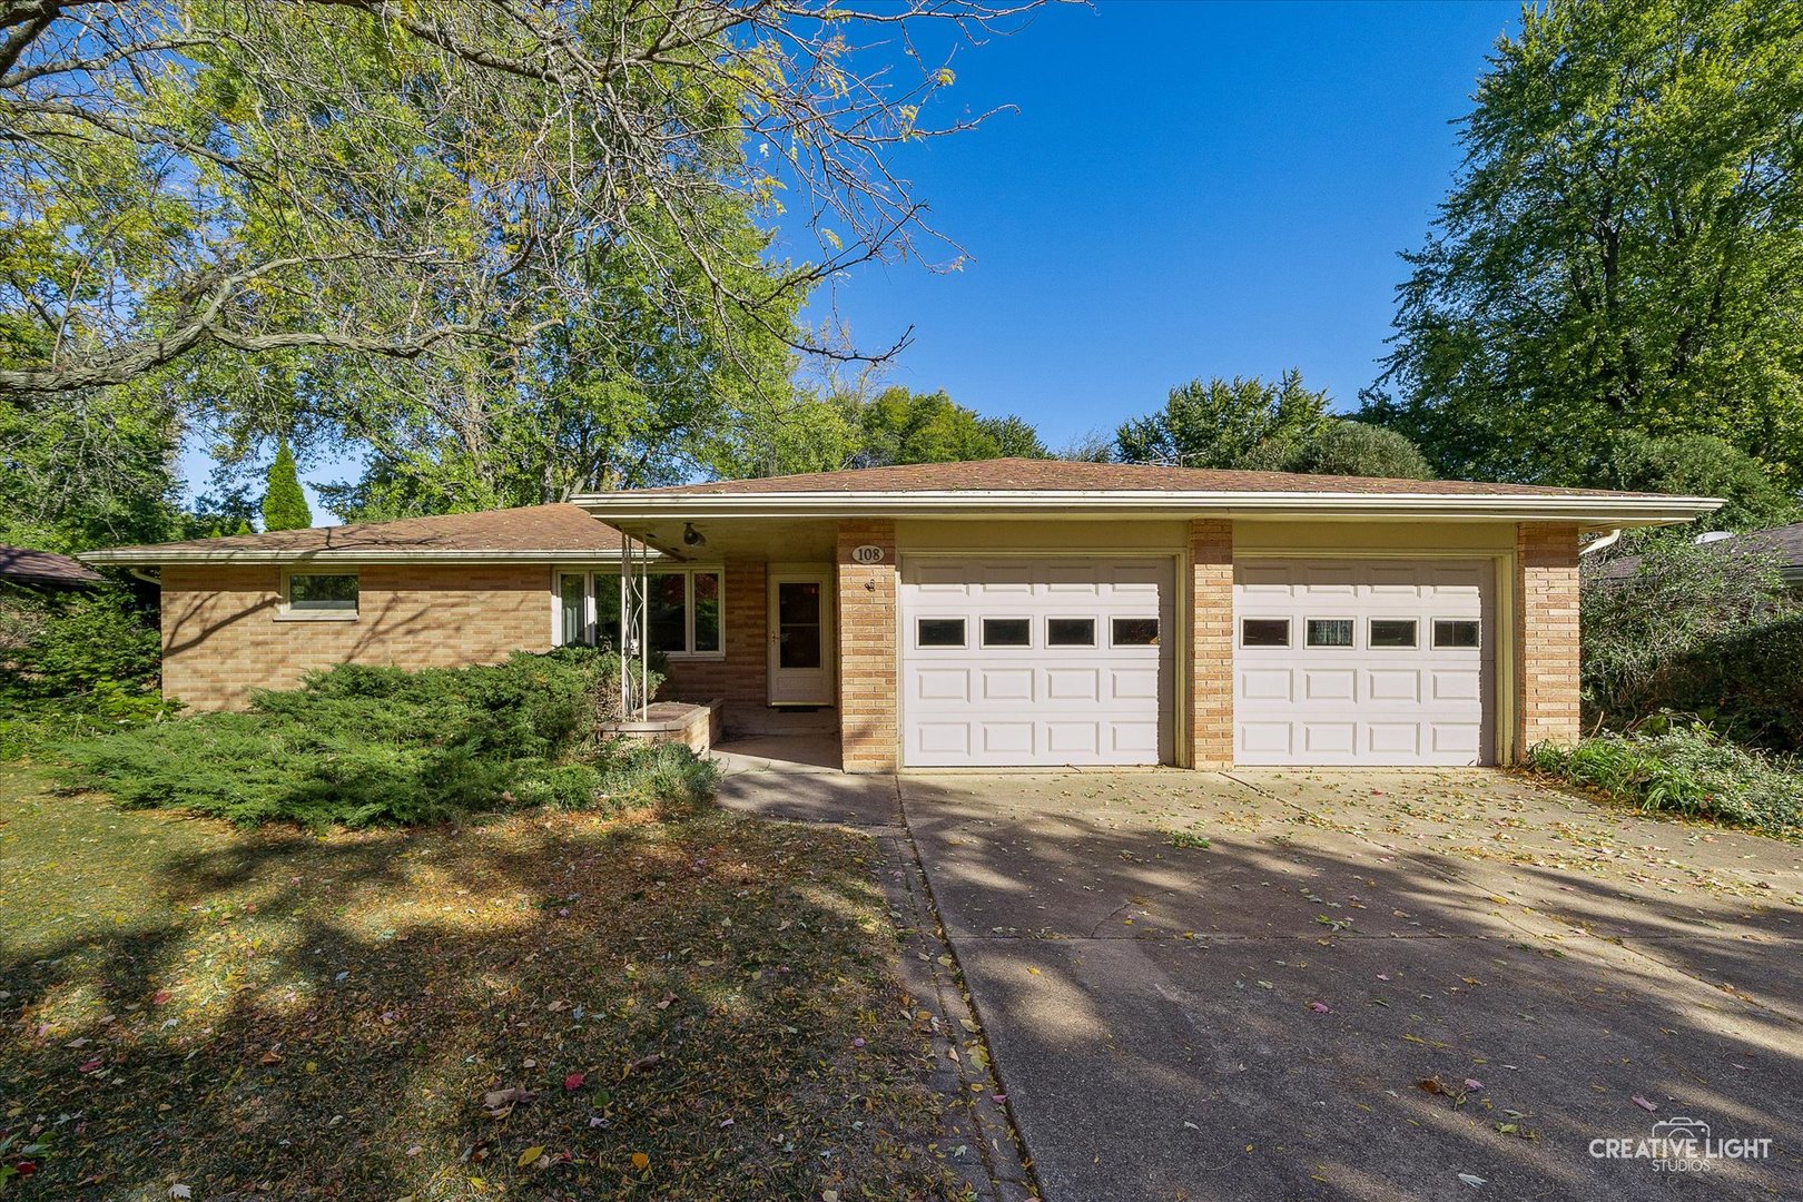
[[[1486,560],[1233,568],[1233,759],[1487,764],[1495,569]]]

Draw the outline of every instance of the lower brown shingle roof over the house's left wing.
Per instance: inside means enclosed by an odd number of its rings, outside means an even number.
[[[620,533],[575,505],[532,505],[389,523],[238,533],[87,551],[92,564],[188,562],[584,562],[615,559]]]

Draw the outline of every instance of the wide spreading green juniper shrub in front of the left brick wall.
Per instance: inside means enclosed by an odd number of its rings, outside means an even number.
[[[577,647],[494,667],[339,665],[299,688],[261,690],[242,714],[70,742],[63,782],[128,807],[307,827],[705,798],[714,769],[687,748],[602,735],[618,685],[617,654]]]

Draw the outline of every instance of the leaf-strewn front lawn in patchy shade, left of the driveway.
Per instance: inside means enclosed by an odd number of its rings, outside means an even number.
[[[871,843],[694,809],[243,831],[0,769],[36,1198],[956,1197]]]

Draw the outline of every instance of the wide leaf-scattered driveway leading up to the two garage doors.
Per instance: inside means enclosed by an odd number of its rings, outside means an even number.
[[[1051,1200],[1803,1197],[1799,845],[1486,771],[894,788]],[[1592,1155],[1679,1117],[1771,1144]]]

